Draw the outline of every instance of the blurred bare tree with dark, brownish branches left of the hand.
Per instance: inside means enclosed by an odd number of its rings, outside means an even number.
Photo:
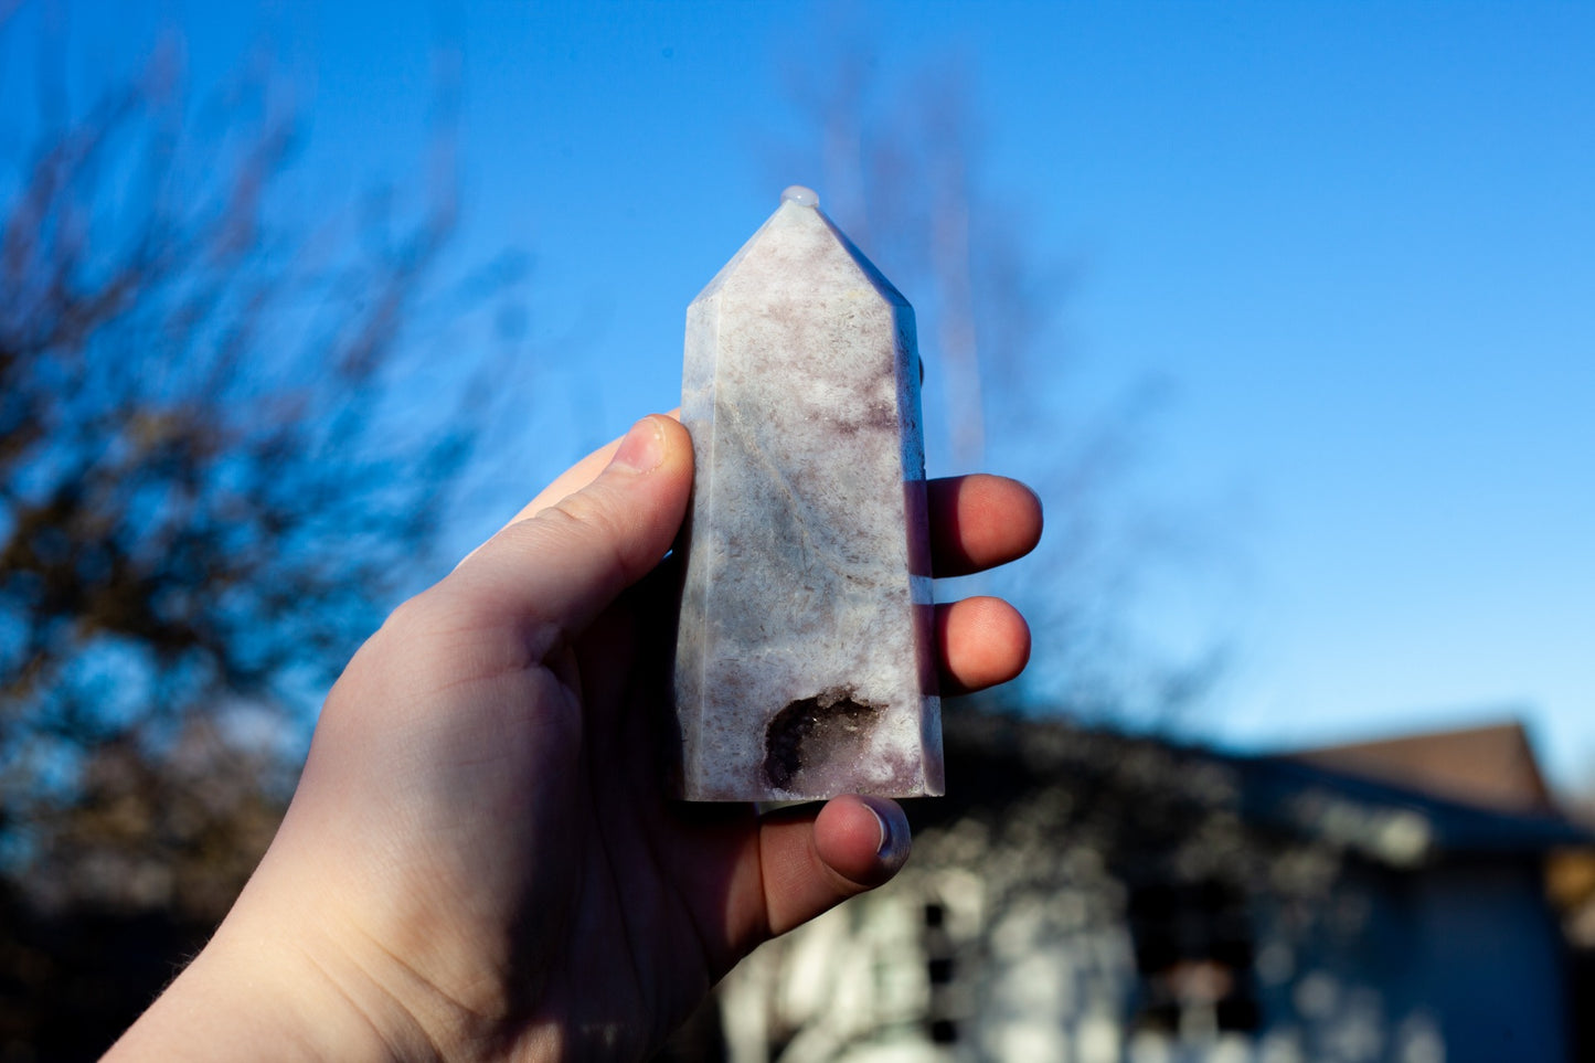
[[[286,195],[289,83],[191,107],[177,46],[0,158],[0,908],[33,927],[0,948],[0,1041],[129,1018],[155,986],[69,931],[160,916],[169,950],[225,911],[321,691],[431,575],[490,367],[416,340],[515,270],[437,278],[456,67],[429,177],[354,211]],[[77,946],[112,1006],[73,993]]]

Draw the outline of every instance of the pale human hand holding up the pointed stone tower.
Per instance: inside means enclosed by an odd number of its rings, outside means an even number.
[[[278,838],[128,1058],[643,1058],[762,940],[887,881],[895,801],[667,801],[686,431],[638,421],[388,619]],[[1027,552],[1019,484],[931,484],[936,575]],[[1018,675],[997,599],[938,607],[947,693]]]

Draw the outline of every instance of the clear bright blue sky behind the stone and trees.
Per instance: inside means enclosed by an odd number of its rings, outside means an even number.
[[[1560,782],[1595,776],[1595,6],[860,11],[882,78],[971,72],[986,187],[1070,276],[1059,407],[1168,388],[1136,492],[1217,546],[1137,622],[1228,646],[1193,729],[1512,710]],[[683,310],[783,184],[783,70],[836,46],[802,3],[69,8],[85,70],[163,24],[196,85],[276,43],[329,201],[413,163],[431,48],[459,41],[463,255],[534,255],[525,493],[675,404]]]

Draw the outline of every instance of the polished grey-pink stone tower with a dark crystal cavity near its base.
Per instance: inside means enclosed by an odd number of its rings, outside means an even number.
[[[941,793],[914,310],[782,204],[687,308],[675,793]]]

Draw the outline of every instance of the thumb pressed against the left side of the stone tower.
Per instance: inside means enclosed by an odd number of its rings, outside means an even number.
[[[664,559],[691,488],[691,436],[652,413],[595,480],[506,527],[448,581],[506,618],[576,634]]]

